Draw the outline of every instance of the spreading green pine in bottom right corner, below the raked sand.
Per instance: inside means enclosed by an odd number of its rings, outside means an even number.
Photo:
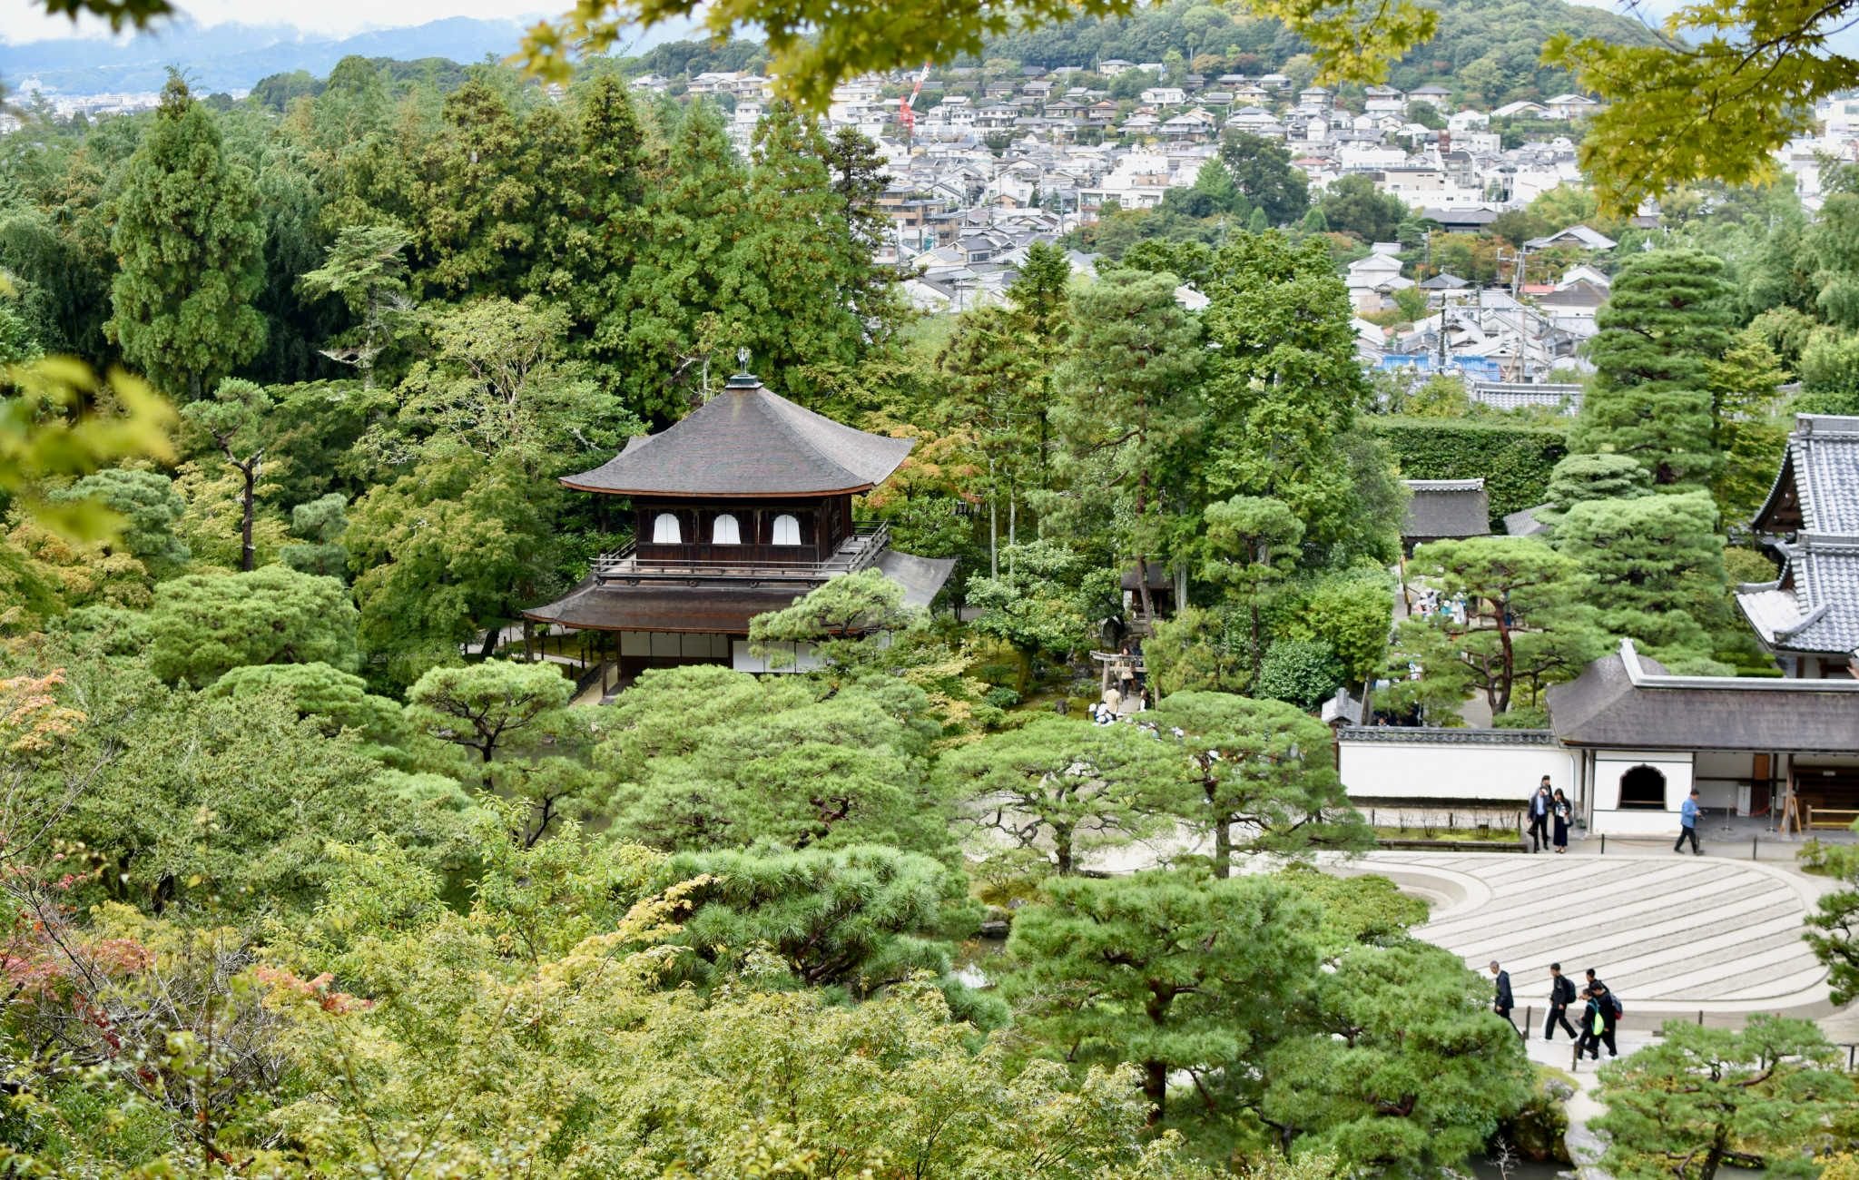
[[[1664,1037],[1601,1069],[1595,1130],[1615,1176],[1710,1180],[1725,1163],[1762,1160],[1814,1174],[1807,1152],[1853,1100],[1840,1054],[1809,1020],[1757,1013],[1742,1029],[1668,1020]]]

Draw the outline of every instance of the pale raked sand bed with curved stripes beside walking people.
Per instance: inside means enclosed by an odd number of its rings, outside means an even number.
[[[1755,1011],[1827,1016],[1826,968],[1801,940],[1822,883],[1790,868],[1718,857],[1379,851],[1372,872],[1433,903],[1422,938],[1511,976],[1517,1018],[1549,1000],[1549,964],[1576,985],[1595,968],[1627,1005],[1625,1028],[1675,1015]]]

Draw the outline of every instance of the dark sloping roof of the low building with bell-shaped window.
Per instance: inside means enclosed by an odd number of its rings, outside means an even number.
[[[1565,745],[1610,749],[1859,749],[1859,680],[1671,676],[1630,641],[1547,693]]]

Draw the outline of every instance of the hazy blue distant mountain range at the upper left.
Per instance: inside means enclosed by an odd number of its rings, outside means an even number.
[[[560,4],[554,7],[561,7]],[[216,24],[177,20],[123,41],[65,39],[0,45],[0,82],[19,93],[37,80],[48,93],[108,95],[158,91],[167,67],[178,67],[195,93],[245,91],[270,74],[309,71],[323,76],[357,54],[363,58],[450,58],[481,61],[506,58],[522,39],[524,20],[452,17],[407,28],[351,37],[322,37],[290,26]],[[693,35],[692,22],[667,22],[641,35],[632,50]]]

